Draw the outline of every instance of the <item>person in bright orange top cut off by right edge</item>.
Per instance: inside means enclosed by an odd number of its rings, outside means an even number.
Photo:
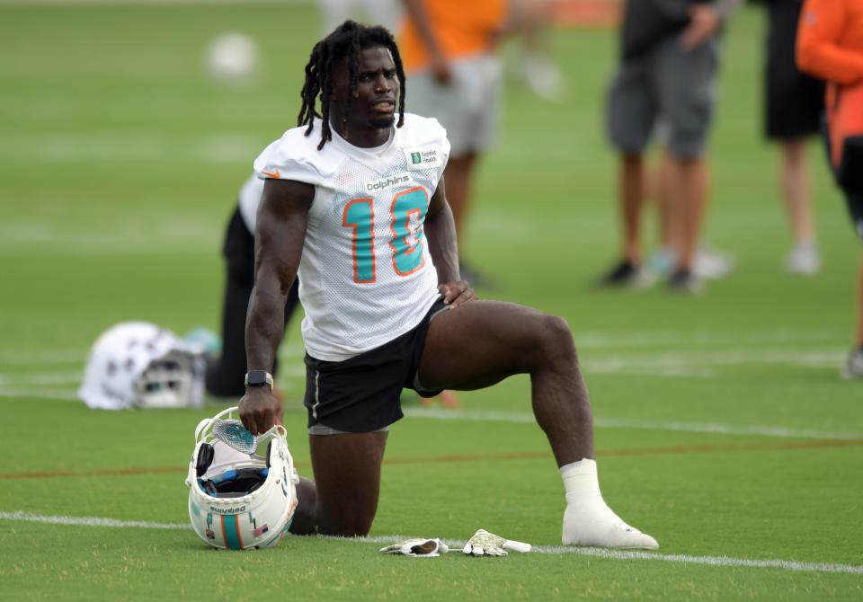
[[[796,61],[801,71],[828,82],[828,153],[863,239],[863,0],[806,0]],[[857,332],[842,372],[846,378],[863,378],[863,255],[857,288]]]

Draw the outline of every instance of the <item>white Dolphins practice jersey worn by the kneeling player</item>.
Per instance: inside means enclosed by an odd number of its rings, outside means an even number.
[[[387,144],[364,149],[333,133],[317,150],[289,129],[254,161],[259,178],[315,185],[299,264],[310,356],[342,361],[413,329],[439,297],[423,222],[449,158],[437,120],[405,115]]]

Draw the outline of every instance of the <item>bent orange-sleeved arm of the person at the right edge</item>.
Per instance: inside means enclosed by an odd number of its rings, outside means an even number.
[[[844,2],[806,0],[797,31],[796,60],[801,71],[837,84],[863,79],[863,54],[838,43],[847,20]]]

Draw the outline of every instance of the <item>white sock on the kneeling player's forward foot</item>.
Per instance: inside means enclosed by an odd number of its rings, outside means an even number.
[[[566,491],[564,532],[565,545],[601,547],[637,547],[656,549],[653,537],[629,527],[602,500],[596,462],[584,458],[560,467]]]

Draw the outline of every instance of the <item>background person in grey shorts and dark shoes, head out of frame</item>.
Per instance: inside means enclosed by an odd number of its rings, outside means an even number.
[[[669,210],[680,235],[668,288],[688,292],[700,288],[693,262],[709,194],[705,149],[716,101],[719,37],[736,4],[739,0],[627,1],[621,63],[607,105],[609,139],[620,154],[623,256],[601,277],[603,286],[642,281],[645,149],[656,124],[662,122],[668,129]]]

